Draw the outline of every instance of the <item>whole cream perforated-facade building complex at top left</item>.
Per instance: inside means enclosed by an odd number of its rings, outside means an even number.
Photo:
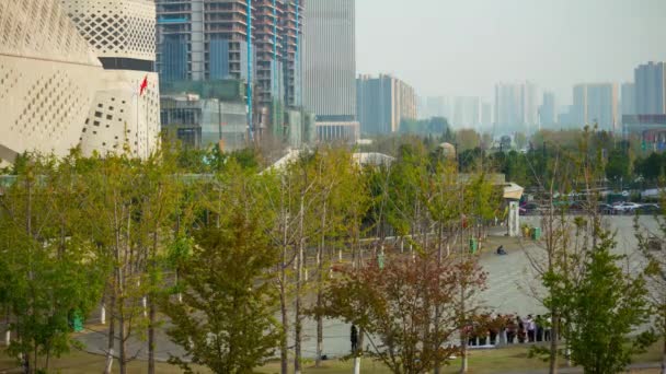
[[[0,0],[0,159],[77,145],[150,154],[160,131],[154,23],[152,1]]]

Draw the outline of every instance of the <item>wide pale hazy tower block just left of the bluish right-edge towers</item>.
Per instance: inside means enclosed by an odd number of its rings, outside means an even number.
[[[616,83],[575,85],[572,114],[577,126],[597,124],[600,130],[618,131],[618,85]]]

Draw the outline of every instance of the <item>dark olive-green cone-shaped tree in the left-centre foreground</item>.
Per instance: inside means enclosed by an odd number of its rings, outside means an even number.
[[[280,340],[274,314],[277,293],[269,270],[278,256],[266,235],[265,206],[253,176],[231,168],[226,214],[219,227],[196,235],[182,267],[183,302],[166,299],[162,311],[173,327],[168,335],[191,362],[170,362],[192,373],[202,364],[214,373],[249,373],[274,353]]]

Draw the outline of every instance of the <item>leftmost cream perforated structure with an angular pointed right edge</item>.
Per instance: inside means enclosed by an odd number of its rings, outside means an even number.
[[[100,73],[57,0],[0,1],[0,159],[76,147]]]

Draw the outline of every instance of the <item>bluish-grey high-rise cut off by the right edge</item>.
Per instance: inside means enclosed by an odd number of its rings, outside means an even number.
[[[634,70],[636,114],[666,114],[666,62],[648,62]]]

